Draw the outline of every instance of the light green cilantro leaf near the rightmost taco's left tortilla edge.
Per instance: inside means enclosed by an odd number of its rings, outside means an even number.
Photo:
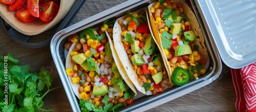
[[[165,30],[162,33],[162,46],[163,49],[169,49],[170,45],[172,45],[172,41],[170,41],[170,38],[172,37],[172,34],[169,34]]]

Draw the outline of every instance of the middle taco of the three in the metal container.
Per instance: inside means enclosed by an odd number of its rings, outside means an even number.
[[[113,41],[124,70],[138,91],[155,95],[172,84],[146,17],[147,11],[140,10],[118,18]]]

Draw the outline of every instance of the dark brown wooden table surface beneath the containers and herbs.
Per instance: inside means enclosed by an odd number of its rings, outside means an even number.
[[[87,0],[69,26],[123,2],[125,1]],[[51,36],[52,32],[54,31],[39,37]],[[62,86],[49,45],[37,49],[26,48],[13,41],[2,29],[0,29],[0,40],[0,55],[12,53],[20,60],[20,65],[30,64],[32,72],[39,72],[43,67],[53,75],[52,87]],[[220,77],[212,83],[147,111],[236,111],[235,101],[236,95],[230,70],[223,64]],[[54,111],[72,111],[63,88],[56,89],[46,96],[45,107]]]

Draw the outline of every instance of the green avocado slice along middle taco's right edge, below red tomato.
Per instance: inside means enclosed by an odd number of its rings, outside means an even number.
[[[151,34],[148,35],[147,38],[148,39],[145,41],[145,45],[144,45],[143,49],[144,49],[144,53],[146,55],[151,55],[151,54],[153,54],[153,51],[155,50],[156,43]]]

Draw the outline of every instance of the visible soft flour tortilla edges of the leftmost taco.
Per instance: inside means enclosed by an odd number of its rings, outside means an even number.
[[[125,81],[125,83],[132,89],[132,91],[135,93],[135,96],[137,95],[137,92],[136,92],[136,88],[134,87],[132,81],[129,79],[129,77],[127,76],[125,70],[123,69],[123,66],[120,64],[120,61],[118,60],[119,58],[116,56],[116,51],[114,50],[113,48],[113,43],[112,43],[112,40],[110,39],[109,37],[109,34],[106,33],[106,35],[108,36],[109,38],[109,41],[110,42],[110,48],[111,48],[111,51],[112,51],[112,55],[113,55],[113,58],[115,60],[115,63],[117,65],[117,68],[118,68],[118,71],[120,73],[120,75],[122,76],[123,80]],[[73,43],[72,46],[70,47],[70,50],[69,50],[69,53],[67,55],[67,59],[66,59],[66,69],[68,68],[74,68],[74,63],[72,63],[72,57],[69,55],[72,51],[76,51],[75,50],[75,46],[76,46],[77,43]],[[69,76],[69,80],[71,81],[71,77]],[[79,98],[79,92],[78,92],[78,88],[80,87],[80,84],[78,83],[71,83],[71,86],[72,86],[72,89],[75,93],[75,95],[77,96],[78,99]]]

